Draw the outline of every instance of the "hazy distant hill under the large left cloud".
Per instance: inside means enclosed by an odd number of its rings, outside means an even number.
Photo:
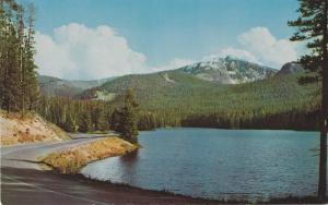
[[[74,96],[85,89],[99,86],[113,79],[115,77],[96,81],[69,81],[47,75],[38,75],[38,84],[42,94],[49,96]]]

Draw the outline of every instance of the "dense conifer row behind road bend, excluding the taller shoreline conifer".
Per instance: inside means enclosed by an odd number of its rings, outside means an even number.
[[[68,132],[91,132],[110,129],[113,107],[102,100],[42,96],[37,111]]]

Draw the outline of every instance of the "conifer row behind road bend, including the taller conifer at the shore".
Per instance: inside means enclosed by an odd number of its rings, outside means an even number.
[[[48,121],[67,132],[117,131],[121,137],[137,143],[138,104],[133,93],[127,91],[122,106],[104,100],[77,100],[70,97],[42,96],[37,111]]]

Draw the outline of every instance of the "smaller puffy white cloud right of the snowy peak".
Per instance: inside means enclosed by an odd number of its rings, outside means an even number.
[[[237,41],[237,48],[223,49],[220,55],[231,55],[273,68],[297,59],[297,45],[288,39],[277,39],[266,27],[254,27],[239,35]]]

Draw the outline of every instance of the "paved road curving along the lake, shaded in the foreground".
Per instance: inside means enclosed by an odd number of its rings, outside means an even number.
[[[1,202],[4,205],[203,204],[161,192],[96,182],[81,176],[42,171],[39,156],[95,141],[99,135],[73,135],[71,141],[1,148]],[[213,203],[213,202],[211,202]]]

